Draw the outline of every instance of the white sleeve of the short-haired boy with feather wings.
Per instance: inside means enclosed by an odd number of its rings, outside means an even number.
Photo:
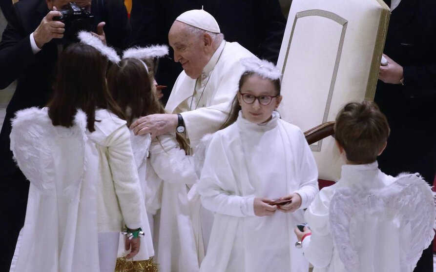
[[[332,262],[333,239],[329,227],[330,199],[322,190],[307,209],[304,217],[312,234],[303,240],[303,253],[315,268]]]

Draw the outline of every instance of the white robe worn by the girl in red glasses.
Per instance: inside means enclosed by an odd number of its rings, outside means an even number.
[[[212,137],[199,193],[216,212],[202,272],[307,272],[309,263],[294,246],[303,209],[318,192],[318,172],[300,129],[279,119],[258,125],[244,119]],[[301,196],[294,213],[255,216],[255,197]]]

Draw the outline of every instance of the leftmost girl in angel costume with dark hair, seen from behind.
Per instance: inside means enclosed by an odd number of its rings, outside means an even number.
[[[106,85],[108,60],[120,59],[91,33],[79,38],[47,107],[13,120],[11,150],[31,182],[15,272],[113,272],[124,228],[126,258],[154,254],[130,132]]]

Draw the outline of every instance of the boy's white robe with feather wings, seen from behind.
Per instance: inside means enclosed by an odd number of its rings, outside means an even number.
[[[412,272],[433,240],[433,193],[417,175],[392,177],[377,162],[342,166],[305,213],[313,272]]]

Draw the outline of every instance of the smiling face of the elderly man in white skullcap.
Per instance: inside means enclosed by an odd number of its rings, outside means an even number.
[[[175,21],[169,30],[168,40],[174,49],[174,61],[182,64],[189,78],[200,77],[210,59],[203,37],[190,34],[186,24]]]

